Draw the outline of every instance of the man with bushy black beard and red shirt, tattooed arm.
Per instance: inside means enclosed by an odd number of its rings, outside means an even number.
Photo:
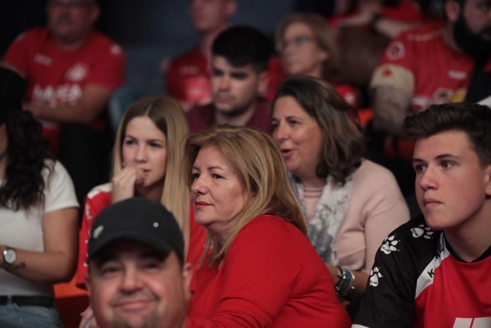
[[[482,2],[445,0],[444,24],[405,32],[387,46],[370,83],[375,131],[398,137],[408,114],[464,100],[476,59],[491,49],[491,15]],[[409,161],[412,143],[397,146]]]

